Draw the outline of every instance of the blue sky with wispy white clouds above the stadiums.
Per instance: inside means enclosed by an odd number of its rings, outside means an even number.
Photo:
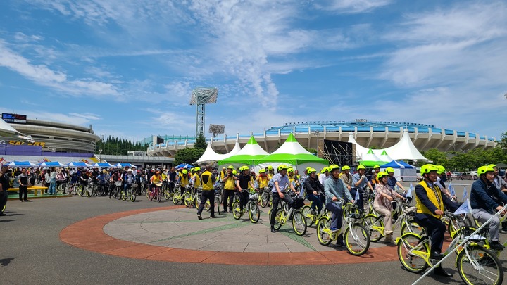
[[[0,111],[142,139],[392,120],[500,137],[505,1],[0,1]],[[207,134],[209,137],[209,134]]]

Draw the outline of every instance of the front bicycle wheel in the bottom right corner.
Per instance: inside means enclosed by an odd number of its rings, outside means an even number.
[[[468,254],[467,254],[468,252]],[[465,284],[502,284],[503,268],[496,255],[480,246],[464,249],[456,258],[456,265]]]

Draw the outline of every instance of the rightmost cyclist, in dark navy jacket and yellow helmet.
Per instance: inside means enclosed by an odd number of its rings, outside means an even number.
[[[479,179],[473,182],[472,191],[470,191],[470,205],[472,206],[472,215],[479,222],[486,222],[496,212],[502,210],[502,203],[507,203],[507,195],[496,188],[493,183],[494,169],[489,165],[484,165],[477,169]],[[503,211],[501,215],[506,215],[507,211]],[[489,223],[489,248],[496,251],[503,250],[504,246],[499,243],[500,238],[500,219],[498,216],[493,217]]]

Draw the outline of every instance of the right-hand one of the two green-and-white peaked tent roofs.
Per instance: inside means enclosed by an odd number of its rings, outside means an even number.
[[[292,165],[300,165],[303,163],[322,163],[329,164],[325,159],[314,156],[307,151],[291,133],[284,144],[280,146],[276,151],[273,151],[269,156],[265,156],[256,163],[290,163]]]

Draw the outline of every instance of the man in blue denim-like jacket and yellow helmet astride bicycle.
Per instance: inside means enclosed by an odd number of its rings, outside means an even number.
[[[334,202],[339,201],[341,198],[351,203],[354,201],[349,189],[346,188],[342,179],[339,179],[339,166],[333,164],[327,167],[327,170],[330,172],[330,178],[326,179],[324,183],[324,193],[326,196],[325,207],[332,213],[331,230],[333,232],[338,232],[342,227],[342,205],[337,205],[337,203]],[[337,245],[345,246],[342,235],[338,238]]]

